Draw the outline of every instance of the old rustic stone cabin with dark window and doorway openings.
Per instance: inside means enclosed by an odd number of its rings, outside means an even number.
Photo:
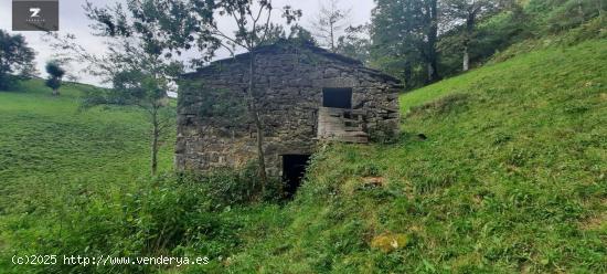
[[[298,185],[319,141],[368,143],[397,134],[398,80],[309,44],[280,41],[254,53],[268,176]],[[184,75],[191,84],[178,99],[179,170],[256,159],[256,129],[245,104],[249,56]]]

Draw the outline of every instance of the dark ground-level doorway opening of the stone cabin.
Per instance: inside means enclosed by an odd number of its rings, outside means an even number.
[[[309,155],[283,155],[283,181],[287,198],[292,198],[306,175]]]

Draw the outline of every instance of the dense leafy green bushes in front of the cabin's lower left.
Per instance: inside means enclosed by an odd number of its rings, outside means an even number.
[[[47,207],[56,212],[55,225],[14,234],[40,241],[14,241],[14,254],[65,254],[86,256],[228,256],[242,243],[238,232],[246,215],[232,213],[258,202],[253,189],[259,181],[255,166],[243,170],[215,170],[205,175],[163,175],[136,182],[137,190],[107,200],[85,186],[55,193]],[[276,185],[273,185],[276,186]],[[276,201],[276,197],[264,196]],[[264,201],[264,200],[262,200]],[[46,207],[42,207],[46,208]],[[33,219],[49,215],[34,209]],[[29,219],[26,219],[29,220]],[[23,220],[13,229],[28,225]],[[41,265],[45,273],[113,273],[109,266]],[[124,272],[149,273],[157,266],[120,266]]]

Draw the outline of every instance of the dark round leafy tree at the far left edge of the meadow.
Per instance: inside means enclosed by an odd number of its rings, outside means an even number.
[[[0,30],[0,89],[10,88],[17,78],[34,75],[34,57],[25,38]]]

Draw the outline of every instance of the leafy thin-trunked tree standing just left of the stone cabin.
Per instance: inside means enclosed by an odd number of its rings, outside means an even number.
[[[85,12],[92,21],[92,32],[104,38],[108,46],[107,52],[100,55],[88,53],[75,42],[74,35],[60,38],[56,33],[50,33],[55,39],[53,46],[67,52],[60,59],[86,62],[89,73],[111,86],[87,94],[85,107],[135,105],[148,114],[152,175],[158,169],[161,137],[174,118],[168,91],[183,71],[181,49],[190,48],[196,38],[198,41],[209,41],[205,30],[180,19],[187,12],[184,8],[183,2],[172,0],[127,0],[126,8],[121,3],[96,7],[87,2]],[[203,12],[206,17],[200,20],[210,20],[212,7],[199,8],[206,11]],[[196,38],[190,35],[194,30],[200,32]],[[215,49],[214,43],[198,43],[200,57],[191,62],[209,60]]]

